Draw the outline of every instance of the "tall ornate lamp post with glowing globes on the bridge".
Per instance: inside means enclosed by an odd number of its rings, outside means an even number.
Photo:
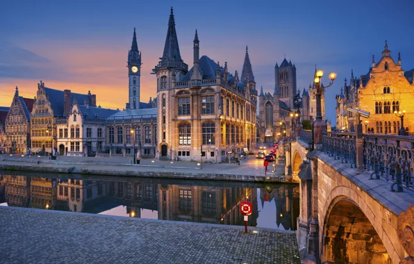
[[[336,79],[336,73],[332,72],[331,74],[329,74],[329,79],[331,80],[331,82],[329,83],[329,85],[325,86],[325,87],[321,87],[320,85],[320,81],[322,79],[322,76],[324,75],[324,72],[322,72],[321,70],[316,72],[316,76],[314,79],[315,85],[316,85],[316,93],[315,93],[315,97],[316,97],[316,119],[315,122],[313,122],[312,124],[312,137],[313,137],[313,142],[315,145],[315,148],[317,150],[322,149],[322,132],[325,132],[327,127],[326,127],[326,122],[324,122],[324,120],[322,120],[322,92],[325,88],[328,88],[329,86],[331,86],[333,84],[333,81],[335,81]]]

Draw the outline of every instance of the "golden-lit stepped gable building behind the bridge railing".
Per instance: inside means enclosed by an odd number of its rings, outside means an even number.
[[[372,67],[367,74],[359,79],[351,74],[351,83],[345,81],[345,92],[336,96],[337,127],[345,131],[354,131],[356,117],[346,110],[347,107],[361,108],[370,112],[369,119],[361,119],[367,133],[398,134],[401,119],[394,111],[403,111],[404,129],[414,132],[414,100],[413,74],[414,69],[404,72],[401,65],[401,54],[397,62],[392,59],[386,41],[381,59],[375,63],[372,56]]]

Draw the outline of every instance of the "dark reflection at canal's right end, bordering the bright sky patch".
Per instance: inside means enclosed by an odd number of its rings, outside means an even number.
[[[276,224],[285,230],[296,230],[296,219],[299,216],[299,188],[289,185],[281,185],[279,188],[266,186],[260,189],[260,201],[262,208],[265,201],[271,202],[274,199],[276,206]]]

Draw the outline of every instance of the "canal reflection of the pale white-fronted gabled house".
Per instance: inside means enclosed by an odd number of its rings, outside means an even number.
[[[58,183],[58,210],[98,213],[95,212],[97,199],[107,195],[107,183],[83,179],[68,179]],[[101,201],[101,199],[99,199]]]

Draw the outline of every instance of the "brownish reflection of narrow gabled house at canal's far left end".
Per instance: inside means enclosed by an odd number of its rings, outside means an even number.
[[[26,207],[30,204],[31,179],[24,176],[3,176],[4,195],[8,206]]]

